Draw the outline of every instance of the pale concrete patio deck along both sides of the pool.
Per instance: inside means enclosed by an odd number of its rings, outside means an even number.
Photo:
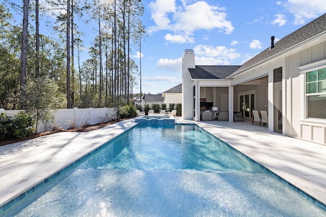
[[[268,132],[250,122],[196,123],[298,189],[326,204],[326,146]],[[134,119],[88,133],[62,132],[0,146],[0,213],[40,182],[133,127]],[[19,199],[20,197],[18,197]]]

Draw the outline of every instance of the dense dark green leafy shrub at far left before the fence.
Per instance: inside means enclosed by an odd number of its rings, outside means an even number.
[[[11,116],[0,114],[0,141],[23,138],[33,134],[35,120],[23,112]]]

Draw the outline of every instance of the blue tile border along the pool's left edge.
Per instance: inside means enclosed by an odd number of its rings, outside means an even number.
[[[18,203],[21,199],[25,198],[26,196],[30,195],[31,193],[35,192],[36,190],[38,190],[39,188],[41,188],[44,184],[48,183],[49,181],[51,181],[52,179],[55,179],[56,177],[58,177],[59,175],[61,175],[63,172],[67,171],[68,169],[70,169],[71,167],[76,166],[78,163],[82,162],[84,159],[86,159],[87,157],[91,156],[92,154],[94,154],[95,152],[99,151],[100,149],[102,149],[103,147],[105,147],[107,144],[114,142],[116,139],[118,139],[120,136],[126,134],[128,131],[130,131],[131,129],[135,128],[137,125],[129,128],[128,130],[124,131],[123,133],[117,135],[116,137],[114,137],[113,139],[103,143],[102,145],[98,146],[97,148],[95,148],[94,150],[92,150],[91,152],[85,154],[85,156],[77,159],[76,161],[74,161],[73,163],[69,164],[68,166],[64,167],[63,169],[55,172],[54,174],[50,175],[49,177],[43,179],[41,182],[37,183],[36,185],[34,185],[32,188],[28,189],[27,191],[25,191],[24,193],[16,196],[15,198],[11,199],[9,202],[4,203],[3,205],[0,206],[0,214],[4,211],[6,211],[8,208],[10,208],[11,206],[13,206],[14,204]]]

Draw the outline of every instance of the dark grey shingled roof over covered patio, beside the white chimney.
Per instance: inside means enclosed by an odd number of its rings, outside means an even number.
[[[192,79],[224,79],[241,66],[196,66],[188,69]]]

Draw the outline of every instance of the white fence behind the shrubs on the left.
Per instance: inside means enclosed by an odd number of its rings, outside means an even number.
[[[7,116],[14,116],[24,110],[4,110],[0,109],[0,113],[5,112]],[[63,129],[68,129],[70,123],[75,122],[77,127],[82,127],[86,123],[89,125],[95,125],[96,123],[104,120],[105,117],[109,119],[116,119],[117,113],[115,108],[73,108],[73,109],[58,109],[55,111],[55,122]],[[34,126],[35,127],[35,126]],[[39,121],[37,133],[45,132],[49,130],[50,125],[44,125],[42,121]]]

